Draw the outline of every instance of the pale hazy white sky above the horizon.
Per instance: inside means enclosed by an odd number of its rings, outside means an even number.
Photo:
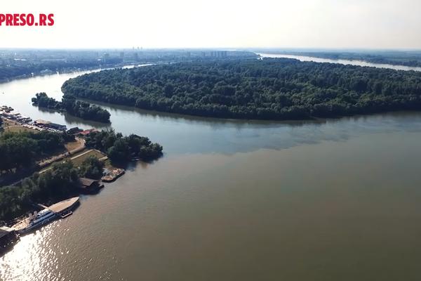
[[[3,0],[54,13],[52,27],[0,26],[2,48],[421,49],[421,0]]]

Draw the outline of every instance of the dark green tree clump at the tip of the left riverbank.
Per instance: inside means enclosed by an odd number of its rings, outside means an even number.
[[[152,160],[162,155],[162,146],[152,143],[145,136],[123,136],[110,131],[92,132],[86,136],[86,146],[107,153],[114,163],[126,162],[132,158]]]

